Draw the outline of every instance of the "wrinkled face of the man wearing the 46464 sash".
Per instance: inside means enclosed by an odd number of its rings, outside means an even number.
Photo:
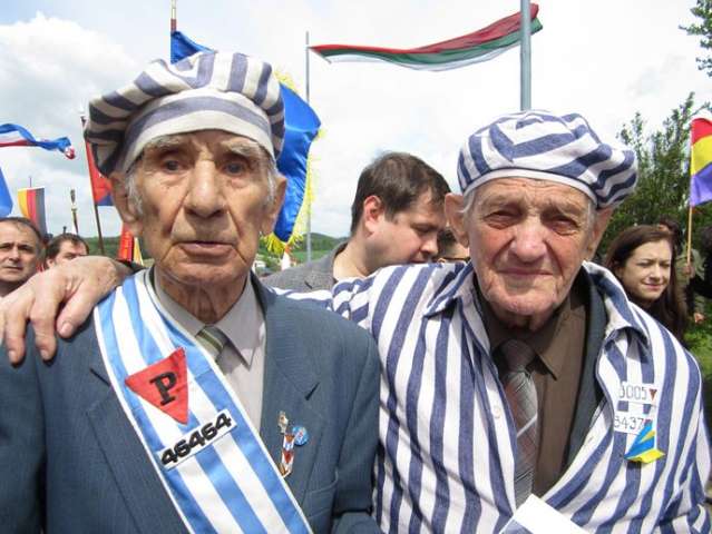
[[[129,199],[124,218],[165,283],[242,288],[281,204],[281,177],[279,200],[269,201],[267,162],[256,142],[220,130],[146,147],[135,175],[142,209]]]

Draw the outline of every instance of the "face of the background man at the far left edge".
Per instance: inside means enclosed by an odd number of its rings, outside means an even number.
[[[22,284],[37,270],[39,243],[35,233],[13,222],[0,224],[0,281]]]

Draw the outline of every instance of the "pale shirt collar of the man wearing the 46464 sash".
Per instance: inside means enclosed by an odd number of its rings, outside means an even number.
[[[156,290],[156,297],[166,312],[189,334],[196,336],[203,329],[205,323],[170,298],[160,287],[160,284],[155,280],[155,277],[152,276],[150,279]],[[247,367],[252,366],[255,353],[264,346],[265,325],[264,314],[257,301],[251,277],[247,278],[245,288],[237,301],[233,304],[222,319],[215,323],[215,326],[230,339]]]

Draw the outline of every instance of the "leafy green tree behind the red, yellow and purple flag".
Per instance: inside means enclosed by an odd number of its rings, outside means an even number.
[[[709,109],[708,102],[701,108]],[[611,240],[624,228],[633,225],[656,224],[663,215],[687,226],[690,196],[690,121],[701,109],[694,105],[691,92],[684,102],[673,109],[660,130],[646,134],[640,112],[623,126],[618,138],[637,156],[638,184],[615,210],[602,240],[605,250]],[[695,210],[693,234],[712,224],[712,210],[704,205]]]

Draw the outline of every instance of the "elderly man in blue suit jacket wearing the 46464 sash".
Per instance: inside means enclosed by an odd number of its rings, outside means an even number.
[[[373,339],[251,275],[285,185],[271,67],[156,61],[89,110],[155,266],[53,365],[0,358],[2,532],[378,532]]]

